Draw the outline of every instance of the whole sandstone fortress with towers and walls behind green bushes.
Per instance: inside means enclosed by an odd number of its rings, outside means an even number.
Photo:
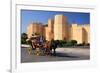
[[[28,38],[33,33],[43,35],[46,40],[76,40],[77,43],[90,43],[90,24],[68,24],[68,19],[63,14],[55,15],[49,19],[47,25],[31,23],[27,27]]]

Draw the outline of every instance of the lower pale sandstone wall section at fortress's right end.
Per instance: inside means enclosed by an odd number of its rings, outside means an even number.
[[[78,43],[90,43],[90,27],[72,24],[72,40],[77,40]]]

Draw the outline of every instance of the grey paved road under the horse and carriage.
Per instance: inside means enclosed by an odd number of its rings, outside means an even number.
[[[21,48],[21,62],[49,62],[49,61],[72,61],[89,60],[89,48],[57,48],[56,56],[29,55],[27,48]]]

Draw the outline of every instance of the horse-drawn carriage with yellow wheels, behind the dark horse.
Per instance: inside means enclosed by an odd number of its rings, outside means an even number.
[[[31,41],[28,48],[28,54],[35,55],[50,55],[52,52],[51,44],[49,41],[44,41],[39,35],[32,36],[28,41]]]

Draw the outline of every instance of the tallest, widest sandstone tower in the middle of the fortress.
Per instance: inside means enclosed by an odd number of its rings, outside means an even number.
[[[68,39],[67,18],[60,14],[55,16],[54,22],[54,40]]]

